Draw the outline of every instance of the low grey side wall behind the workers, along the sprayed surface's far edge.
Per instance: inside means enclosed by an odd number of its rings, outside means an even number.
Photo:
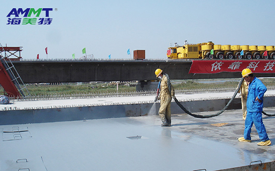
[[[185,101],[181,104],[191,113],[220,111],[230,99]],[[275,97],[265,97],[264,107],[274,107]],[[160,108],[160,103],[144,103],[129,105],[106,105],[106,106],[86,106],[72,108],[55,109],[30,109],[0,111],[0,125],[44,123],[58,121],[73,121],[86,119],[103,119],[115,117],[156,115]],[[241,100],[236,98],[229,105],[227,110],[241,109]],[[172,114],[183,114],[184,112],[171,103]]]

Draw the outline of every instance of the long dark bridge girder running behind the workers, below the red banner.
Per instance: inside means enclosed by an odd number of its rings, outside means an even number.
[[[162,68],[170,79],[240,78],[240,72],[189,74],[191,60],[38,60],[13,61],[24,83],[156,80]],[[256,73],[274,77],[274,73]]]

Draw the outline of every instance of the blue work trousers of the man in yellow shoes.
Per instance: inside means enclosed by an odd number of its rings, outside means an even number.
[[[251,127],[255,125],[255,128],[259,134],[259,137],[262,141],[269,140],[266,127],[263,123],[262,112],[247,112],[245,119],[245,128],[244,128],[244,139],[251,140]]]

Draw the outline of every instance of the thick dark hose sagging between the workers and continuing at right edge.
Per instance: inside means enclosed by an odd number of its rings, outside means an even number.
[[[239,85],[235,91],[235,93],[233,94],[232,98],[229,100],[229,102],[226,104],[226,106],[220,111],[218,112],[217,114],[207,114],[207,115],[199,115],[199,114],[192,114],[191,112],[187,111],[179,102],[176,98],[174,98],[176,104],[186,113],[186,114],[189,114],[193,117],[197,117],[197,118],[209,118],[209,117],[214,117],[214,116],[218,116],[220,114],[222,114],[227,108],[228,106],[231,104],[231,102],[233,101],[233,99],[236,97],[238,91],[240,90],[241,88],[241,85],[242,85],[242,82],[243,82],[244,78],[242,77],[240,79],[240,82],[239,82]],[[275,116],[275,114],[267,114],[265,113],[264,111],[262,112],[263,114],[267,115],[267,116]]]

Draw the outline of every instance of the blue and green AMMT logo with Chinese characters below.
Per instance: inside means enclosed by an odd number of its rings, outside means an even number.
[[[52,11],[53,8],[38,8],[35,10],[34,8],[26,8],[23,10],[22,8],[12,8],[11,11],[8,13],[6,17],[7,19],[7,25],[35,25],[36,23],[38,25],[49,25],[53,22],[53,18],[50,18],[50,11]],[[40,14],[45,12],[45,18],[40,17]],[[11,18],[14,17],[14,18]],[[23,17],[23,18],[21,18]],[[43,15],[44,17],[44,15]],[[48,18],[47,18],[48,17]]]

